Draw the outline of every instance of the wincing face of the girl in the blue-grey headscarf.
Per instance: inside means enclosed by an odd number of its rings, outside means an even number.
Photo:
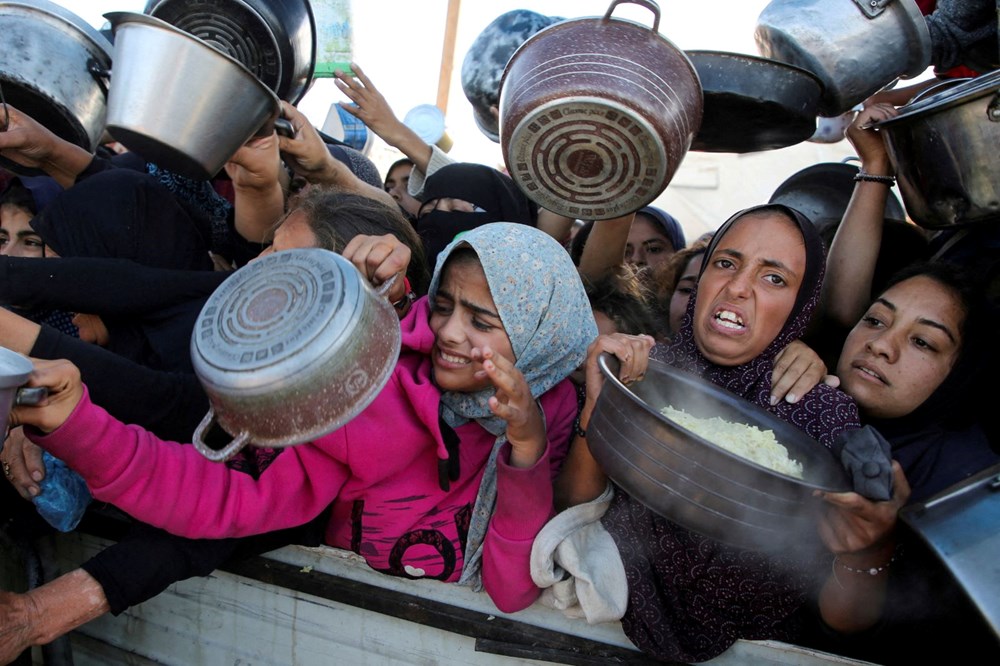
[[[488,346],[511,363],[516,360],[483,267],[471,257],[445,265],[431,302],[430,326],[434,382],[444,391],[474,393],[490,386],[482,363],[472,360],[473,349]]]

